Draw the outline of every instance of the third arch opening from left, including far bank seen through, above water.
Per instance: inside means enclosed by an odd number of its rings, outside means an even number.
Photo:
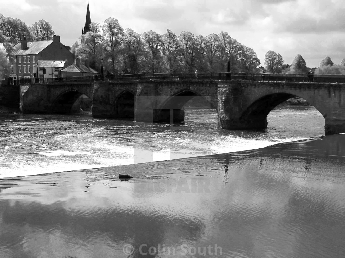
[[[162,108],[154,109],[154,122],[178,123],[185,120],[185,108],[214,108],[211,103],[203,96],[185,90],[172,96],[166,101]]]

